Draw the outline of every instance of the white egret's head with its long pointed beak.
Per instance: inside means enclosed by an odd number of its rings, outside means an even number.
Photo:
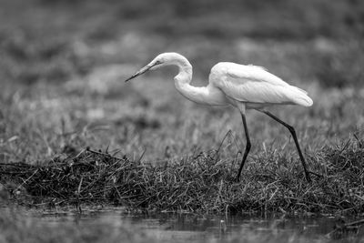
[[[147,73],[147,71],[149,71],[149,70],[156,70],[157,68],[159,68],[161,66],[177,65],[178,60],[180,60],[181,58],[184,58],[184,57],[177,53],[159,54],[147,66],[142,67],[134,75],[127,78],[126,82],[135,78],[136,76],[141,76],[142,74]]]

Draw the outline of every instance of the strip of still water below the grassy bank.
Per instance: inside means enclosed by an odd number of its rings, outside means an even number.
[[[256,242],[257,236],[262,238],[279,238],[290,236],[299,238],[299,242],[331,242],[325,237],[338,220],[334,217],[287,217],[287,216],[253,216],[235,217],[201,216],[195,214],[129,214],[123,208],[89,208],[82,214],[75,209],[60,210],[24,210],[26,217],[36,218],[40,224],[59,228],[64,225],[77,226],[103,225],[118,228],[127,226],[130,230],[143,231],[148,237],[158,241],[177,242],[224,242],[231,238],[245,238],[245,242]],[[354,220],[354,219],[352,219]],[[348,221],[352,221],[349,220]],[[344,242],[359,242],[363,238],[363,230],[355,237]],[[248,239],[247,239],[248,238]],[[251,240],[249,240],[249,238]],[[354,240],[354,241],[353,241]],[[263,241],[261,241],[263,242]],[[271,241],[269,242],[279,242]],[[296,242],[296,241],[292,241]],[[342,241],[339,241],[342,242]]]

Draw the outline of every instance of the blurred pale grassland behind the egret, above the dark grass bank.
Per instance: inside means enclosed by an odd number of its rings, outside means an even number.
[[[363,37],[360,0],[0,0],[0,157],[35,162],[91,146],[165,161],[216,149],[229,129],[221,149],[236,157],[238,112],[180,96],[176,68],[124,83],[167,51],[187,57],[195,86],[231,61],[308,90],[312,107],[271,112],[317,153],[363,135]],[[248,112],[248,126],[252,157],[294,153],[268,116]]]

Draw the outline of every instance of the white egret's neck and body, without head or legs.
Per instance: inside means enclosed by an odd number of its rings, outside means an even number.
[[[260,109],[272,105],[311,106],[307,93],[296,86],[290,86],[278,76],[270,74],[261,66],[239,65],[221,62],[211,68],[208,85],[191,86],[192,66],[184,56],[176,65],[177,90],[187,99],[208,106],[238,106]]]

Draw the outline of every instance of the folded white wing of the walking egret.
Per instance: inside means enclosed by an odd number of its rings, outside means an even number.
[[[312,105],[306,91],[288,85],[260,66],[219,63],[211,70],[210,82],[230,98],[241,102]]]

